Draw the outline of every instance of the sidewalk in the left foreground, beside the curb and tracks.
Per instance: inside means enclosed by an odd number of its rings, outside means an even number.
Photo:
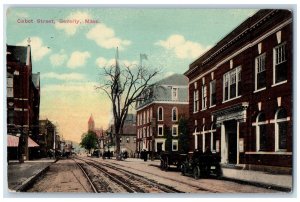
[[[7,165],[7,184],[9,192],[24,191],[30,184],[43,174],[55,159],[39,159],[33,161],[10,161]]]

